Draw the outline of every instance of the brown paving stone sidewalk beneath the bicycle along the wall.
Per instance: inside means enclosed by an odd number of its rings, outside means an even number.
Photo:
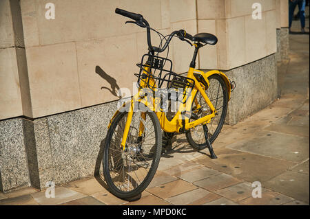
[[[280,99],[225,126],[218,159],[178,135],[139,200],[116,198],[98,176],[56,186],[55,198],[31,187],[0,193],[0,205],[309,205],[309,36],[290,36],[290,48],[278,67]],[[251,196],[255,181],[261,198]]]

